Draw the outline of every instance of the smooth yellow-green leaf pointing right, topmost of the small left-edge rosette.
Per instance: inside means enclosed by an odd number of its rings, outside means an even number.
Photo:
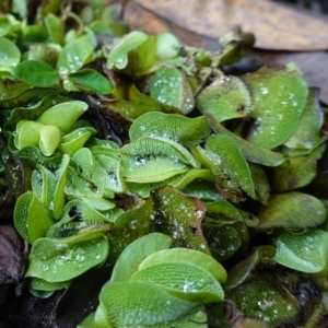
[[[47,109],[37,121],[44,125],[58,127],[68,133],[73,128],[78,118],[87,109],[87,104],[80,101],[70,101],[57,104]]]

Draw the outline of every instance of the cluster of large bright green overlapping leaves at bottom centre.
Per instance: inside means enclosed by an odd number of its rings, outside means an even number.
[[[168,249],[171,243],[153,233],[124,250],[101,292],[95,327],[165,327],[201,311],[203,303],[223,301],[223,267],[197,250]]]

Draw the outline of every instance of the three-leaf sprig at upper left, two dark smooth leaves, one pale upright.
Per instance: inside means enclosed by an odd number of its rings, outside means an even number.
[[[46,22],[48,25],[56,23],[54,22],[54,15],[48,15]],[[56,39],[58,38],[55,33],[50,34]],[[8,44],[10,42],[4,39],[4,43]],[[32,52],[32,48],[30,50],[30,59],[19,63],[20,56],[17,55],[20,55],[20,51],[14,47],[14,45],[8,45],[7,50],[7,52],[11,51],[13,63],[15,63],[12,75],[30,85],[38,87],[60,86],[59,82],[61,81],[61,86],[68,91],[71,91],[71,89],[86,90],[109,94],[113,90],[112,83],[103,74],[93,69],[82,69],[85,63],[94,60],[94,36],[92,36],[92,33],[67,44],[59,52],[58,59],[55,58],[56,68],[51,66],[48,58],[49,54],[55,51],[52,48],[44,50],[45,55],[43,56],[36,54],[35,50]]]

